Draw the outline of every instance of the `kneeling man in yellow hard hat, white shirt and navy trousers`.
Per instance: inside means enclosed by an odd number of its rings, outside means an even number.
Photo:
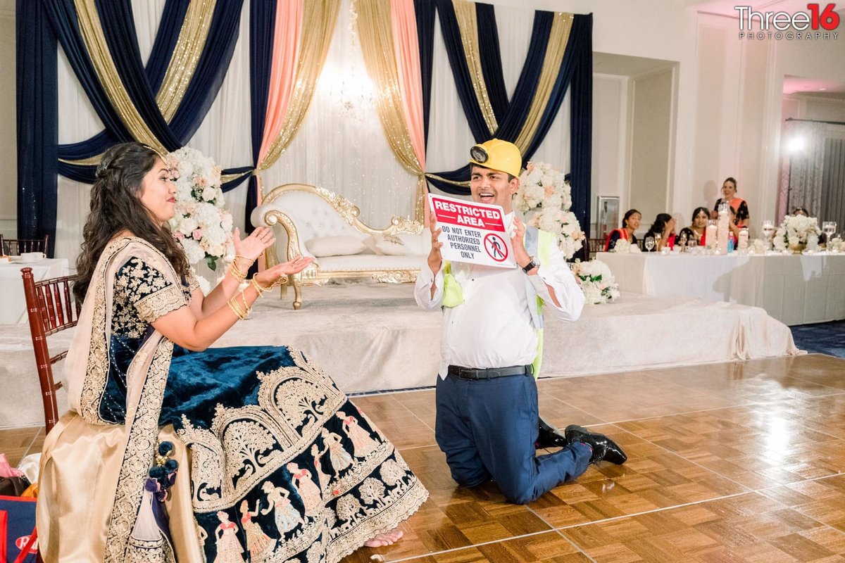
[[[553,233],[529,228],[513,213],[520,150],[492,139],[470,150],[470,190],[477,203],[503,208],[518,268],[444,263],[442,232],[431,225],[428,268],[417,278],[423,309],[443,309],[435,436],[452,478],[461,486],[493,478],[518,504],[624,452],[607,436],[570,425],[564,436],[538,429],[535,376],[542,350],[542,304],[564,321],[576,321],[584,294],[570,273]],[[541,425],[543,425],[541,420]],[[560,446],[537,457],[535,448]]]

